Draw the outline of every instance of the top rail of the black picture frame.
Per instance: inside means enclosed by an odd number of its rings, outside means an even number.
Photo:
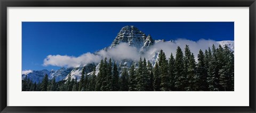
[[[215,6],[250,6],[254,0],[1,0],[7,6],[102,6],[102,7],[138,7],[138,6],[189,6],[189,7],[215,7]]]

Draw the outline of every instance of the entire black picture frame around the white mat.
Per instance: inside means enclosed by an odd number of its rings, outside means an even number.
[[[0,112],[255,112],[255,0],[0,0]],[[250,7],[249,107],[10,107],[7,105],[7,7]],[[239,97],[237,97],[239,98]]]

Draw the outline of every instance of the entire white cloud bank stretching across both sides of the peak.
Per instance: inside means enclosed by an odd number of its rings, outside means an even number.
[[[127,43],[121,43],[109,51],[101,50],[96,53],[85,53],[80,56],[68,56],[68,55],[48,55],[44,59],[43,66],[58,66],[58,67],[78,67],[84,66],[87,63],[99,63],[101,59],[105,57],[115,60],[138,60],[140,56],[150,60],[156,51],[163,50],[167,58],[170,58],[171,53],[176,54],[177,47],[180,46],[183,53],[185,46],[189,45],[189,49],[194,53],[197,59],[199,50],[203,52],[211,47],[212,44],[218,46],[219,44],[213,40],[200,39],[199,41],[190,41],[188,39],[178,39],[174,42],[158,42],[151,46],[145,53],[139,54],[139,50],[136,47],[129,46]]]

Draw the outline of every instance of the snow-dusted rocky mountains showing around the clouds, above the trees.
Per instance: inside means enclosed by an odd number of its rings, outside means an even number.
[[[138,28],[134,26],[125,26],[123,27],[117,36],[115,37],[114,41],[111,43],[109,47],[105,47],[105,51],[111,50],[113,47],[117,46],[120,43],[127,43],[129,46],[136,47],[140,54],[143,54],[147,52],[149,47],[152,45],[159,43],[159,42],[166,42],[164,39],[162,40],[154,40],[150,35],[144,34],[142,31],[140,31]],[[175,41],[167,41],[170,43],[175,43]],[[220,41],[217,42],[221,46],[227,45],[230,50],[234,51],[234,41]],[[125,50],[124,50],[125,51]],[[159,50],[155,50],[152,53],[148,54],[148,59],[154,66],[155,62],[158,59]],[[115,60],[115,59],[112,59]],[[133,60],[115,60],[118,66],[118,70],[121,71],[123,68],[130,68],[132,64],[137,64],[136,61]],[[82,70],[84,68],[86,75],[91,75],[92,71],[96,67],[96,75],[98,75],[99,72],[99,64],[87,64],[84,67],[77,67],[77,68],[61,68],[59,70],[40,70],[40,71],[31,71],[26,74],[22,74],[22,79],[26,77],[33,80],[33,82],[42,82],[43,77],[45,74],[49,75],[49,79],[52,79],[55,77],[56,81],[60,80],[66,80],[68,79],[68,75],[70,75],[71,79],[76,79],[77,81],[80,80],[82,76]]]

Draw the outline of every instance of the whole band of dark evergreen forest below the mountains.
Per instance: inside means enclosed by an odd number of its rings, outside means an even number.
[[[178,46],[175,58],[163,50],[156,63],[140,58],[130,68],[118,69],[115,61],[102,59],[99,72],[87,75],[82,71],[79,80],[55,82],[44,76],[41,83],[22,79],[22,91],[234,91],[234,52],[229,47],[209,47],[199,50],[197,59],[186,45]]]

